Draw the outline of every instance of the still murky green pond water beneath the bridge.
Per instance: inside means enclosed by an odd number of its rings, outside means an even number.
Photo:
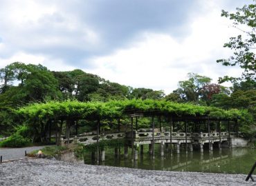
[[[109,165],[115,167],[132,167],[138,169],[154,169],[178,172],[212,172],[212,173],[229,173],[229,174],[248,174],[250,168],[256,160],[256,149],[214,149],[209,152],[194,150],[194,152],[185,153],[181,151],[176,154],[165,151],[165,156],[161,158],[160,149],[156,146],[155,158],[153,160],[144,149],[144,153],[138,152],[138,161],[131,160],[129,149],[129,158],[125,159],[121,149],[120,155],[115,157],[113,149],[105,151],[105,161],[100,165]],[[84,163],[95,165],[90,154],[84,156]]]

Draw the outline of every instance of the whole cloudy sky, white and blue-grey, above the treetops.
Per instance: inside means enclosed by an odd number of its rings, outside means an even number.
[[[0,68],[14,61],[165,90],[188,72],[239,76],[216,63],[239,34],[221,10],[251,0],[0,0]]]

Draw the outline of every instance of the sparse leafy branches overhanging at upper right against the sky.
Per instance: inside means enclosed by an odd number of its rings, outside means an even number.
[[[227,17],[233,21],[235,28],[241,30],[242,34],[237,37],[230,37],[230,41],[224,44],[225,48],[235,50],[233,56],[229,59],[219,59],[217,63],[226,66],[239,65],[244,70],[241,79],[256,80],[256,4],[245,5],[243,8],[237,8],[237,12],[229,13],[222,10],[221,17]],[[241,29],[242,28],[242,29]],[[225,76],[219,79],[220,82],[237,80]]]

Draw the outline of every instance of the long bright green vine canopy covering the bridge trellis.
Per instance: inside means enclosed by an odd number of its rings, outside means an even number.
[[[191,103],[132,99],[109,102],[49,101],[33,103],[17,110],[17,114],[30,121],[48,119],[83,119],[83,118],[121,118],[125,114],[141,112],[172,116],[212,116],[225,119],[251,118],[246,110],[222,110],[217,107],[205,107]],[[245,116],[246,115],[246,116]]]

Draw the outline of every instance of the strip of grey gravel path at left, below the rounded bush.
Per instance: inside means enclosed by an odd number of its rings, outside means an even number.
[[[25,158],[25,151],[31,152],[36,149],[42,149],[46,146],[23,147],[23,148],[0,148],[0,156],[3,156],[3,161]]]

